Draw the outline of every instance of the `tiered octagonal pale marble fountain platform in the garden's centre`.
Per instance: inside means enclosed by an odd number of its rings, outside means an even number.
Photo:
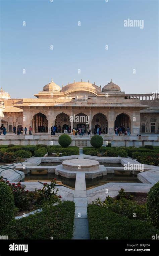
[[[107,169],[104,165],[100,165],[98,161],[91,159],[78,159],[64,160],[55,169],[55,174],[69,179],[75,179],[76,173],[85,172],[87,179],[94,179],[107,174]]]

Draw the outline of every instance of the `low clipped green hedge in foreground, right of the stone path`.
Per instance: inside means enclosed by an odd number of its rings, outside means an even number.
[[[159,233],[149,223],[130,220],[99,205],[89,204],[87,213],[91,239],[152,239]]]

